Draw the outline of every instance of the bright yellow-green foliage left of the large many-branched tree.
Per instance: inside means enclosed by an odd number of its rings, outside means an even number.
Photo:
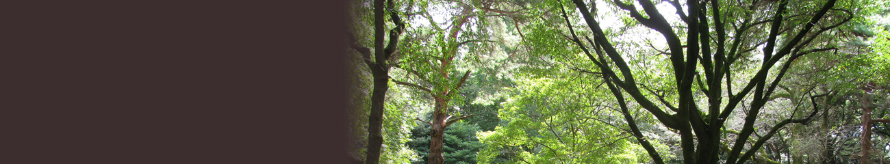
[[[489,144],[481,163],[513,155],[512,163],[636,163],[642,148],[629,142],[619,113],[601,101],[592,77],[533,78],[518,82],[498,116],[507,121],[495,131],[480,132]],[[606,93],[607,94],[607,93]],[[517,149],[518,148],[518,149]],[[643,154],[644,155],[644,154]]]

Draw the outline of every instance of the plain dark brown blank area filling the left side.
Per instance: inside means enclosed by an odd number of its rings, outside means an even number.
[[[345,2],[16,3],[0,163],[346,162]]]

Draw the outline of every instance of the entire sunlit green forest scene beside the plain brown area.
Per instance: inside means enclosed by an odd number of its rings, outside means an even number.
[[[354,163],[890,163],[890,1],[348,12]]]

